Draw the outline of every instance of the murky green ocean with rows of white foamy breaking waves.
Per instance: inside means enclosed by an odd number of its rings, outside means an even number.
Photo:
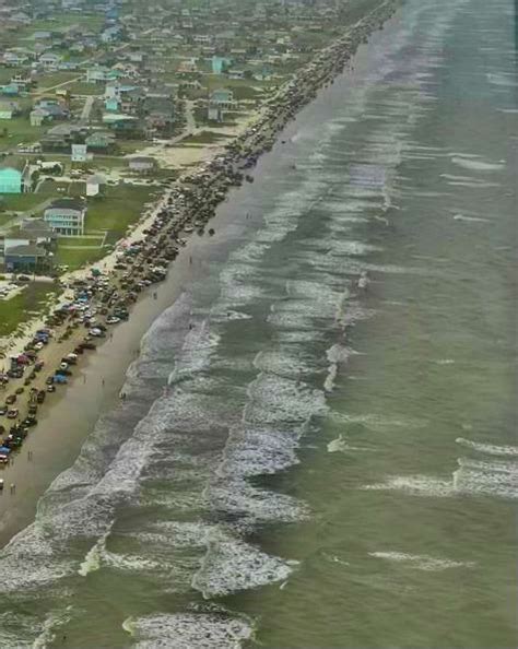
[[[2,550],[1,647],[515,645],[511,2],[408,0],[283,138]]]

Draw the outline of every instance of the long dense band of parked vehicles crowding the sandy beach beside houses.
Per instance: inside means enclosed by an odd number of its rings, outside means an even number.
[[[223,153],[169,187],[155,205],[153,220],[142,231],[142,238],[119,248],[111,271],[94,268],[86,279],[68,284],[72,297],[47,318],[24,353],[11,357],[9,367],[0,371],[0,389],[10,392],[4,405],[0,405],[0,465],[13,462],[30,430],[37,426],[37,412],[47,394],[62,389],[80,357],[109,338],[111,327],[128,320],[130,307],[139,294],[166,278],[170,262],[187,243],[186,236],[193,232],[203,234],[228,190],[254,180],[248,170],[263,152],[271,150],[279,131],[319,88],[333,83],[358,45],[370,32],[380,28],[393,10],[392,0],[386,2],[346,36],[321,50],[266,103],[255,122],[228,143]],[[207,233],[211,236],[214,229],[209,228]],[[361,276],[358,284],[363,286],[366,282],[366,278]],[[155,299],[156,296],[154,291]],[[56,343],[61,345],[61,361],[49,368],[43,357],[46,346]],[[126,392],[120,393],[121,401],[126,398]],[[3,423],[4,418],[9,423]],[[30,451],[27,459],[32,458]],[[0,479],[2,491],[3,480]],[[15,493],[14,484],[10,485],[10,493]]]

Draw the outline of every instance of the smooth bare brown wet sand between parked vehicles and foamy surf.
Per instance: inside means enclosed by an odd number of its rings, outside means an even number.
[[[214,236],[189,237],[169,268],[166,281],[143,294],[132,307],[130,319],[113,330],[111,340],[103,339],[96,352],[80,356],[78,365],[71,368],[73,378],[69,385],[58,388],[58,392],[49,394],[39,406],[38,425],[14,455],[14,461],[0,471],[4,481],[3,493],[0,492],[2,546],[34,520],[38,498],[52,480],[72,464],[97,420],[120,402],[127,369],[138,355],[143,334],[189,282],[209,274],[209,267],[203,264],[204,251],[225,239],[228,221],[228,214],[222,209],[211,221],[216,231]],[[60,357],[59,345],[54,342],[51,345],[55,346],[52,356]],[[14,493],[11,493],[11,484],[15,485]]]

